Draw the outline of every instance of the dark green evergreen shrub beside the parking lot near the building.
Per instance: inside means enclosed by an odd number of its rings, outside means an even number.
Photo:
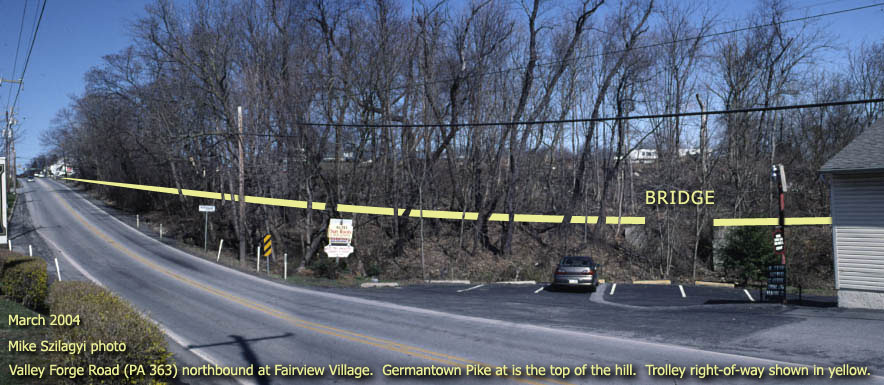
[[[775,262],[773,235],[766,227],[738,227],[721,249],[725,274],[746,285],[764,279],[767,265]]]

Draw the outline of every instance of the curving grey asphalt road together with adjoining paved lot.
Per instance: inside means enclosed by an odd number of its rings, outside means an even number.
[[[343,363],[367,366],[372,372],[361,380],[255,376],[236,379],[239,383],[716,382],[649,377],[646,364],[770,367],[850,362],[869,366],[873,374],[884,373],[881,312],[814,313],[826,309],[765,305],[642,311],[591,301],[586,293],[535,293],[540,286],[489,285],[462,292],[452,286],[292,287],[160,243],[56,181],[37,179],[26,185],[25,194],[29,222],[45,240],[48,252],[59,258],[62,279],[85,277],[131,301],[167,332],[179,361],[222,366]],[[637,376],[393,378],[382,374],[385,364],[476,363],[544,367],[632,363]],[[832,382],[817,377],[770,379]],[[874,376],[853,380],[884,383],[884,378]],[[737,376],[718,382],[758,381]]]

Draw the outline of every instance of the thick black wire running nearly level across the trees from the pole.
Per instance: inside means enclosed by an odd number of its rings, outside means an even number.
[[[515,126],[515,125],[542,125],[542,124],[563,124],[563,123],[590,123],[590,122],[606,122],[606,121],[618,121],[618,120],[637,120],[637,119],[665,119],[665,118],[675,118],[675,117],[687,117],[687,116],[702,116],[702,115],[725,115],[725,114],[738,114],[738,113],[750,113],[750,112],[762,112],[762,111],[782,111],[782,110],[797,110],[797,109],[805,109],[805,108],[825,108],[825,107],[837,107],[837,106],[847,106],[847,105],[855,105],[855,104],[869,104],[869,103],[884,103],[884,98],[874,98],[874,99],[858,99],[858,100],[840,100],[834,102],[821,102],[821,103],[807,103],[807,104],[791,104],[785,106],[768,106],[768,107],[749,107],[749,108],[737,108],[730,110],[713,110],[713,111],[693,111],[693,112],[680,112],[680,113],[669,113],[669,114],[649,114],[649,115],[633,115],[633,116],[613,116],[613,117],[601,117],[601,118],[575,118],[575,119],[555,119],[555,120],[535,120],[535,121],[515,121],[515,122],[481,122],[481,123],[439,123],[439,124],[358,124],[358,123],[293,123],[293,125],[300,126],[318,126],[318,127],[352,127],[352,128],[435,128],[435,127],[493,127],[493,126]],[[199,134],[190,134],[190,135],[182,135],[182,137],[197,137],[197,136],[236,136],[239,133],[234,132],[206,132]],[[287,137],[297,137],[297,135],[290,134],[264,134],[264,133],[254,133],[254,132],[244,132],[242,133],[244,136],[255,136],[255,137],[278,137],[278,138],[287,138]]]

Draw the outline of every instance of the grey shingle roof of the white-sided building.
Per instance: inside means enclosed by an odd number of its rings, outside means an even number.
[[[866,128],[820,169],[824,173],[872,171],[884,171],[884,119]]]

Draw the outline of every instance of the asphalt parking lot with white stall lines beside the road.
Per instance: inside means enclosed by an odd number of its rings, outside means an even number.
[[[594,292],[551,290],[545,283],[325,290],[455,315],[884,371],[884,312],[832,307],[832,297],[805,296],[806,305],[782,305],[757,302],[757,289],[749,299],[739,288],[632,283],[602,284]]]

